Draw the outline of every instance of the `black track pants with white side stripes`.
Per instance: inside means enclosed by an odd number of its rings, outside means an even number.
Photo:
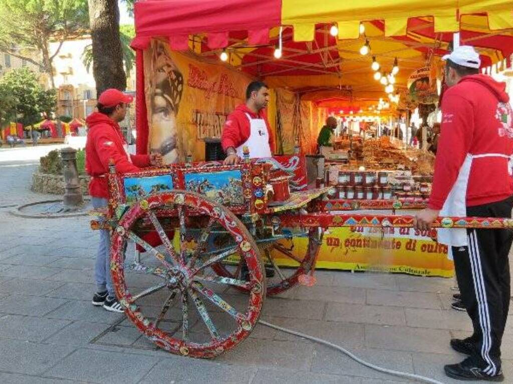
[[[513,197],[467,207],[467,216],[510,218]],[[475,358],[485,373],[501,369],[501,340],[510,301],[509,229],[467,229],[468,247],[452,247],[461,298],[472,320]]]

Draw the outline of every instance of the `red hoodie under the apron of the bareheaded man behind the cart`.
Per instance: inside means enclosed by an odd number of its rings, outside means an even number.
[[[235,110],[228,115],[226,122],[223,126],[223,134],[221,135],[221,145],[223,150],[227,150],[228,147],[232,146],[236,148],[249,138],[251,132],[249,126],[249,119],[246,116],[248,114],[252,119],[264,119],[265,125],[267,126],[267,132],[269,134],[269,146],[271,152],[274,152],[274,137],[272,136],[271,127],[269,121],[267,121],[267,112],[260,110],[258,114],[255,114],[249,110],[246,104],[240,104]],[[251,148],[249,148],[251,154]]]

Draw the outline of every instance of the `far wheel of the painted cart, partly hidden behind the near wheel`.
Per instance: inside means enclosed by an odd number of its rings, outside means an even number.
[[[280,242],[272,239],[258,240],[259,248],[263,255],[263,262],[267,269],[274,270],[274,276],[267,278],[267,295],[273,296],[285,292],[301,281],[312,281],[309,273],[313,272],[314,263],[322,243],[323,231],[321,228],[308,229],[308,244],[304,257],[298,257],[293,254],[292,249],[287,248]],[[272,255],[271,255],[271,252]],[[275,259],[282,259],[286,267],[279,267]],[[212,269],[220,276],[230,279],[243,279],[244,261],[237,265],[230,266],[224,263],[218,263],[212,266]],[[244,290],[243,287],[235,286],[238,290]]]

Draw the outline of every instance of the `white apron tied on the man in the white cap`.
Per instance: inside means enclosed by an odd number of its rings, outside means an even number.
[[[513,156],[513,155],[512,155]],[[452,189],[445,199],[442,210],[440,211],[440,217],[466,217],[467,216],[467,185],[468,177],[470,175],[470,167],[472,166],[473,159],[479,159],[483,157],[502,157],[508,159],[508,173],[511,176],[513,170],[513,157],[504,154],[489,153],[481,155],[470,155],[467,154],[465,161],[460,168],[458,179],[452,186]],[[466,228],[455,228],[455,229],[438,229],[438,242],[448,246],[447,258],[452,260],[452,248],[451,247],[466,247],[468,246],[467,241],[467,229]]]

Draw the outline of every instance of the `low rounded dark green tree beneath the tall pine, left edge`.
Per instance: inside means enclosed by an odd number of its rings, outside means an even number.
[[[3,94],[2,98],[9,100],[6,110],[2,112],[5,114],[4,123],[10,120],[31,125],[42,120],[42,113],[50,116],[55,111],[55,90],[45,91],[38,81],[38,75],[27,67],[13,69],[0,78],[0,93]]]

